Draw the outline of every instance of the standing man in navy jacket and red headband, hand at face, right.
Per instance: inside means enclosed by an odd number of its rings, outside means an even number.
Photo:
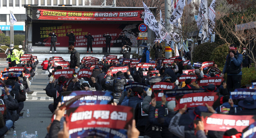
[[[230,45],[229,49],[222,77],[227,73],[227,88],[231,91],[231,89],[240,88],[241,86],[243,55],[237,51],[235,44]]]

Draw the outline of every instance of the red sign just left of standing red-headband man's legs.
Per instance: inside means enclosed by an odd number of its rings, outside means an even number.
[[[224,81],[223,77],[210,77],[210,78],[202,78],[198,80],[199,86],[208,86],[209,84],[213,85],[221,85],[221,82]]]

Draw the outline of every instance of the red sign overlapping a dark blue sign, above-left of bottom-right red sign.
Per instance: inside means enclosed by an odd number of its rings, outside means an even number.
[[[200,93],[189,93],[180,96],[176,96],[176,110],[187,107],[197,107],[198,105],[205,106],[207,103],[212,106],[213,103],[219,98],[217,92],[200,92]]]

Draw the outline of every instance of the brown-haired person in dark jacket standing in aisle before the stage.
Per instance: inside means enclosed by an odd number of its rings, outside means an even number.
[[[71,69],[76,69],[76,73],[78,71],[78,67],[80,67],[80,54],[77,52],[73,45],[68,47],[68,53],[70,53],[70,65]]]

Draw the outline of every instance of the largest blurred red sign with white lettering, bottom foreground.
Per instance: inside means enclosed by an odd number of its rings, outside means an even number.
[[[81,105],[67,110],[66,121],[69,131],[87,127],[128,129],[133,120],[133,108],[113,105]]]

